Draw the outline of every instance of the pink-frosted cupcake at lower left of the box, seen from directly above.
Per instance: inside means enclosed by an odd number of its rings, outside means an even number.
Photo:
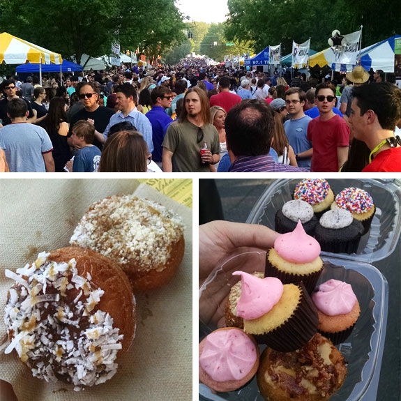
[[[259,347],[240,328],[219,328],[199,343],[199,381],[214,391],[234,391],[255,376]]]

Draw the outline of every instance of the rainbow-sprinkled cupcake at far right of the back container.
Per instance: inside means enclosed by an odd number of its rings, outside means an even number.
[[[368,192],[361,188],[345,188],[336,197],[335,202],[331,204],[331,209],[340,208],[351,212],[356,220],[363,224],[363,234],[366,234],[372,223],[376,206]]]

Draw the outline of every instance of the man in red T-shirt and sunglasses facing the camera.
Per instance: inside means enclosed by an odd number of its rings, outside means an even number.
[[[349,127],[333,112],[335,87],[323,82],[316,86],[319,116],[309,122],[306,139],[312,141],[311,172],[338,172],[347,161]]]

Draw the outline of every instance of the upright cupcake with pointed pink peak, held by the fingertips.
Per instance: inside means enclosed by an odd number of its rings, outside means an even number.
[[[278,236],[268,250],[264,275],[279,278],[283,284],[303,281],[312,293],[323,270],[319,255],[319,243],[306,234],[300,220],[293,232]]]

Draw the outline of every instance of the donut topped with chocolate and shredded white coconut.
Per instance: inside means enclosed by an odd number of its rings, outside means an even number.
[[[88,249],[42,252],[6,270],[10,345],[32,374],[79,390],[110,379],[135,336],[135,298],[121,268]]]

